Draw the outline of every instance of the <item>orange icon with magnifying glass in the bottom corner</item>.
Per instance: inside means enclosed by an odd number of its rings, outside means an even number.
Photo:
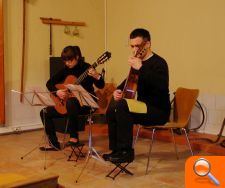
[[[225,188],[225,156],[192,156],[185,163],[186,188]]]

